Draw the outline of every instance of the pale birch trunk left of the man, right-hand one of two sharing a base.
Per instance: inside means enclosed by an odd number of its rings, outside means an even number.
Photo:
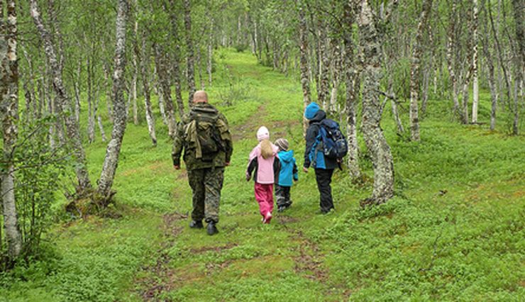
[[[98,193],[104,201],[109,202],[113,193],[111,186],[118,166],[118,155],[126,130],[126,101],[124,101],[124,71],[126,69],[126,21],[128,18],[128,1],[118,0],[116,16],[115,67],[113,72],[114,125],[111,140],[106,149],[106,157],[99,179]]]

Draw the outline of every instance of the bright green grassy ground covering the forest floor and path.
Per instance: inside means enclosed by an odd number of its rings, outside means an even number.
[[[244,180],[260,125],[284,136],[302,163],[299,82],[222,50],[208,91],[236,137],[226,169],[219,235],[190,230],[191,191],[175,172],[167,129],[157,111],[157,147],[145,121],[128,124],[114,189],[123,218],[55,225],[57,257],[0,277],[6,301],[520,301],[525,296],[525,139],[507,136],[504,121],[462,126],[451,102],[431,100],[421,142],[395,134],[385,109],[397,195],[361,210],[370,180],[333,179],[336,212],[321,216],[312,172],[292,188],[292,208],[261,225],[253,182]],[[231,76],[250,94],[231,107],[217,98]],[[156,99],[153,99],[156,104]],[[105,108],[101,105],[101,108]],[[487,123],[490,96],[481,94]],[[402,111],[403,112],[403,111]],[[406,115],[406,114],[405,114]],[[404,117],[406,118],[406,117]],[[407,121],[405,121],[407,125]],[[106,124],[109,134],[111,125]],[[523,128],[523,127],[522,127]],[[97,138],[99,140],[99,138]],[[361,167],[372,167],[361,140]],[[92,180],[105,144],[87,148]],[[2,299],[0,298],[0,300]]]

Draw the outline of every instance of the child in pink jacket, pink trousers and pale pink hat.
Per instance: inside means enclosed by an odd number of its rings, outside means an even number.
[[[277,157],[279,148],[270,142],[270,133],[264,126],[257,131],[257,140],[259,144],[250,152],[246,181],[250,181],[253,173],[255,199],[259,203],[262,223],[270,223],[273,211],[273,184],[277,183],[280,169]]]

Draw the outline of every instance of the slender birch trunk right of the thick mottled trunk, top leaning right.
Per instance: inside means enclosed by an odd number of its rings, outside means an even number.
[[[432,0],[424,0],[421,8],[421,15],[419,16],[419,24],[417,26],[416,38],[414,46],[412,47],[412,62],[410,69],[410,138],[414,141],[421,140],[419,135],[419,65],[421,62],[421,52],[423,42],[423,33],[427,28],[429,22],[430,12],[432,9]]]

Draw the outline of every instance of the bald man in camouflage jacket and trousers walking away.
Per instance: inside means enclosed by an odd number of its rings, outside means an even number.
[[[217,123],[223,147],[213,157],[204,159],[199,147],[195,147],[189,127],[192,126],[192,116],[195,113],[218,116]],[[194,136],[194,135],[193,135]],[[198,145],[198,144],[197,144]],[[172,159],[175,169],[180,169],[180,156],[184,150],[184,163],[188,171],[189,186],[193,191],[193,211],[190,228],[203,228],[202,219],[208,223],[209,235],[218,233],[216,224],[219,223],[219,203],[224,179],[224,167],[230,164],[233,144],[231,141],[228,121],[214,106],[208,104],[208,95],[205,91],[196,91],[193,98],[193,107],[182,117],[177,125],[177,133],[173,145]]]

